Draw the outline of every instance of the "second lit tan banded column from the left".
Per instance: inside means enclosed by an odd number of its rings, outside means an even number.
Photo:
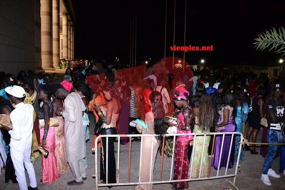
[[[59,66],[59,0],[53,0],[53,66]]]

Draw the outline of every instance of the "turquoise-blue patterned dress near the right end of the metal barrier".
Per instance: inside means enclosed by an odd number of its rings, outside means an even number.
[[[248,116],[248,104],[246,102],[243,103],[243,107],[238,106],[237,108],[237,115],[235,117],[235,123],[237,124],[237,132],[240,132],[243,130],[243,122],[246,122]],[[240,148],[240,135],[235,136],[235,160],[234,162],[237,162],[238,160],[238,150]],[[243,162],[243,150],[240,152],[240,162]]]

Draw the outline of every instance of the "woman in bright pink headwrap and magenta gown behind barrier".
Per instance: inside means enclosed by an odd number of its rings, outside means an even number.
[[[175,88],[173,101],[177,107],[181,108],[178,113],[179,124],[177,126],[177,134],[191,133],[192,108],[188,105],[188,96],[189,92],[185,88]],[[168,121],[167,123],[169,126],[175,126],[172,122]],[[187,152],[191,140],[193,140],[192,135],[185,136],[185,141],[184,136],[176,137],[173,180],[188,179],[189,162]],[[188,181],[172,183],[172,189],[188,189]]]

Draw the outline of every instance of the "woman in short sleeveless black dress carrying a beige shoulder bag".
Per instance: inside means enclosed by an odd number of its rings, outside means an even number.
[[[262,96],[264,96],[264,94],[265,88],[263,86],[259,86],[255,96],[252,98],[252,111],[248,116],[248,131],[246,134],[246,139],[248,142],[250,141],[250,136],[253,132],[252,142],[256,143],[256,137],[260,129],[260,120],[264,117],[262,100]],[[250,151],[251,154],[258,154],[255,149],[255,145],[252,145],[252,149],[246,146],[245,150]]]

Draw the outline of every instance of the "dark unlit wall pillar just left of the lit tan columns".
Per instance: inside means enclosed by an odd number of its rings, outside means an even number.
[[[36,72],[42,69],[41,54],[41,4],[39,0],[34,0],[34,16],[35,16],[35,67]]]

